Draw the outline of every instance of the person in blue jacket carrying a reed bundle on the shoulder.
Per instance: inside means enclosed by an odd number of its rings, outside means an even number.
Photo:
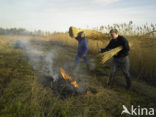
[[[79,63],[80,59],[83,58],[84,63],[87,66],[87,69],[89,70],[89,64],[87,59],[87,52],[88,52],[88,40],[85,37],[84,32],[79,32],[78,36],[75,38],[78,41],[78,51],[77,56],[75,59],[74,69],[77,67],[77,64]]]

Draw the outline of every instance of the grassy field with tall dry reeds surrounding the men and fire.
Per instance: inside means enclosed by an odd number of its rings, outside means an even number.
[[[108,44],[107,38],[88,39],[91,70],[87,71],[81,62],[72,73],[77,41],[68,33],[43,37],[1,35],[0,117],[120,117],[122,105],[156,108],[156,40],[139,35],[126,37],[133,45],[129,56],[130,91],[125,89],[121,72],[116,74],[113,87],[107,86],[112,60],[99,64],[97,59],[97,50]],[[18,41],[26,47],[15,47]],[[80,86],[85,83],[97,93],[65,99],[56,96],[51,87],[40,83],[39,77],[48,74],[55,78],[60,67]]]

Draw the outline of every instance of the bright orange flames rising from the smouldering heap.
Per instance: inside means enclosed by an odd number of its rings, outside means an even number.
[[[64,71],[63,68],[60,68],[60,72],[61,72],[62,77],[63,77],[64,79],[66,79],[66,80],[69,80],[70,83],[71,83],[74,87],[78,87],[78,86],[79,86],[75,80],[72,80],[72,77],[69,76],[69,75]]]

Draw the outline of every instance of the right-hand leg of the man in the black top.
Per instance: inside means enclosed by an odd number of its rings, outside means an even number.
[[[125,57],[124,61],[123,61],[123,64],[122,64],[122,71],[125,75],[125,78],[126,78],[126,83],[127,83],[127,86],[126,88],[129,89],[131,87],[131,80],[130,80],[130,72],[129,72],[129,58],[128,56]]]

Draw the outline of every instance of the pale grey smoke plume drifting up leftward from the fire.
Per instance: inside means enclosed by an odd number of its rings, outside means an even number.
[[[15,48],[23,49],[26,52],[29,64],[37,72],[51,76],[53,80],[57,80],[58,75],[54,67],[54,56],[56,50],[44,50],[42,43],[37,46],[33,45],[30,40],[18,40],[14,43]]]

